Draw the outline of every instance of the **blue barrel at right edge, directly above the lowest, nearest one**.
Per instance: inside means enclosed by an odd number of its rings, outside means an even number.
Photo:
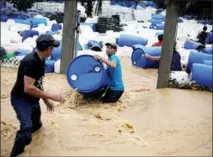
[[[187,72],[191,72],[192,65],[194,63],[203,64],[204,60],[212,60],[212,55],[200,53],[198,51],[191,51],[188,60]]]

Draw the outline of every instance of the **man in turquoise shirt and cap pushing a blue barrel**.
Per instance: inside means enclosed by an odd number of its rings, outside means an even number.
[[[107,56],[109,60],[95,55],[94,58],[103,61],[107,64],[107,74],[109,76],[109,87],[103,97],[104,103],[117,102],[124,92],[124,85],[122,80],[122,69],[119,58],[115,55],[117,52],[117,46],[115,44],[107,43]]]

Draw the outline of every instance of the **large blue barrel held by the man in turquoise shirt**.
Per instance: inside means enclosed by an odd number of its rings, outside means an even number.
[[[105,67],[91,55],[78,56],[67,68],[67,81],[73,89],[86,96],[93,96],[108,85]]]

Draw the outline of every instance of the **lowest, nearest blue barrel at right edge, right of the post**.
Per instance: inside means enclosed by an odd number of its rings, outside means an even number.
[[[193,64],[191,81],[212,89],[212,66],[199,63]]]

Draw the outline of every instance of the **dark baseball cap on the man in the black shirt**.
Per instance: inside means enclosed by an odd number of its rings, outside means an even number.
[[[56,41],[50,34],[42,34],[36,40],[37,48],[39,50],[45,50],[49,47],[58,47],[59,41]]]

